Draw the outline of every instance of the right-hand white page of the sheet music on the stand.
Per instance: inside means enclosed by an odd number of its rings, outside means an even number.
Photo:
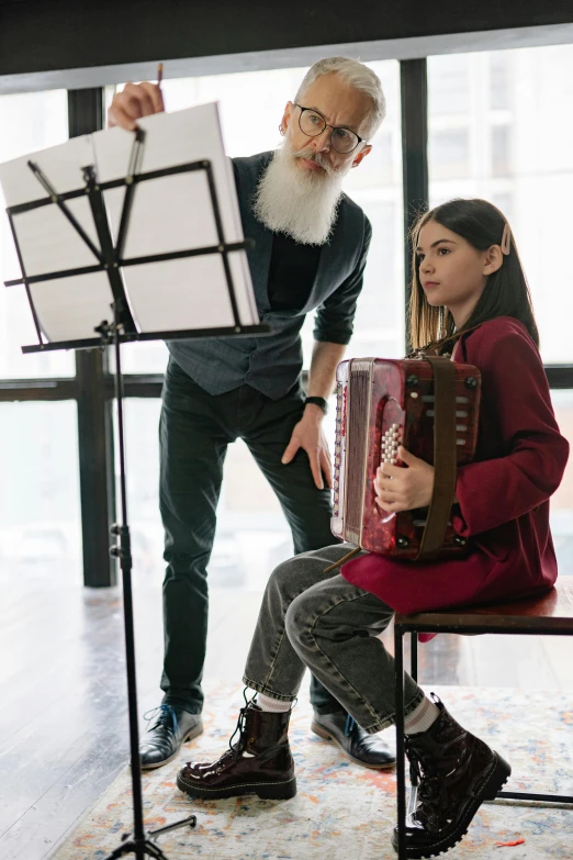
[[[243,241],[233,170],[223,147],[216,103],[154,114],[138,124],[146,132],[138,172],[210,159],[224,238],[226,242]],[[106,182],[124,177],[135,134],[111,129],[97,132],[92,137],[99,180]],[[114,238],[124,194],[123,189],[105,192]],[[123,254],[125,259],[217,244],[204,170],[137,183]],[[229,266],[240,322],[256,325],[259,317],[246,253],[231,254]],[[220,255],[126,266],[123,277],[133,317],[142,332],[233,325]]]

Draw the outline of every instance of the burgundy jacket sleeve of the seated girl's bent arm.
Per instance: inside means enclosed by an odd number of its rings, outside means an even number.
[[[546,502],[561,482],[569,455],[541,358],[525,333],[514,330],[491,338],[472,364],[480,367],[487,391],[488,414],[481,432],[495,426],[507,453],[458,470],[461,516],[454,516],[452,525],[464,537],[517,520]]]

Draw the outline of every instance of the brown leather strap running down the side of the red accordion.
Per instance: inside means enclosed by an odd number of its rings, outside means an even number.
[[[456,494],[456,365],[424,356],[434,370],[434,493],[417,559],[430,560],[441,548]]]

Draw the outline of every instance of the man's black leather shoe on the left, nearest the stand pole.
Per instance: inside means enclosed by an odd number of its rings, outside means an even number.
[[[201,714],[190,714],[181,707],[159,705],[148,717],[150,726],[139,744],[143,770],[160,768],[172,761],[181,744],[203,731]]]

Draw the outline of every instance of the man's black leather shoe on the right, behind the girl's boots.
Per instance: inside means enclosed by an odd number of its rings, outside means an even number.
[[[314,712],[311,728],[315,735],[338,744],[345,756],[363,768],[383,770],[393,768],[396,755],[380,737],[369,735],[345,711],[336,714]]]

